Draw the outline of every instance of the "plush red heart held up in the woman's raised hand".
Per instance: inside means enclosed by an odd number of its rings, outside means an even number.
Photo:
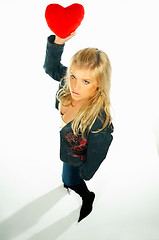
[[[84,7],[78,3],[66,8],[59,4],[49,4],[45,10],[45,18],[52,32],[61,38],[66,38],[81,24]]]

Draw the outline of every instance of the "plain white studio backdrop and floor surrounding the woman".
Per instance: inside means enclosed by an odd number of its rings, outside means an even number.
[[[80,224],[80,198],[61,182],[58,83],[43,69],[50,3],[74,2],[0,0],[0,239],[158,240],[158,1],[78,1],[85,18],[62,61],[88,46],[108,54],[115,126]]]

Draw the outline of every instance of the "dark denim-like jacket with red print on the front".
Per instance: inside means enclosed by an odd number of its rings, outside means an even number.
[[[67,68],[61,64],[64,45],[54,44],[55,36],[48,37],[44,69],[53,79],[61,81]],[[58,100],[56,99],[58,109]],[[113,140],[112,126],[105,127],[98,133],[93,133],[102,127],[101,120],[96,119],[89,134],[84,138],[73,134],[71,123],[60,131],[60,158],[72,166],[82,166],[80,174],[85,180],[93,177],[100,164],[106,158],[109,146]]]

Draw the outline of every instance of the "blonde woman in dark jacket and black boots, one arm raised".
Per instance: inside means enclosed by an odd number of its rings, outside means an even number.
[[[60,159],[64,187],[82,198],[78,222],[92,211],[95,194],[84,180],[90,180],[105,159],[112,142],[110,113],[111,65],[107,55],[96,48],[78,51],[67,69],[61,64],[65,42],[48,37],[44,69],[60,82],[56,108],[61,114]]]

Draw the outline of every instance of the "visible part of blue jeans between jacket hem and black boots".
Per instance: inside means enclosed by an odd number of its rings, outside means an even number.
[[[63,163],[62,181],[67,186],[80,184],[82,178],[80,176],[81,167],[73,167],[68,163]]]

